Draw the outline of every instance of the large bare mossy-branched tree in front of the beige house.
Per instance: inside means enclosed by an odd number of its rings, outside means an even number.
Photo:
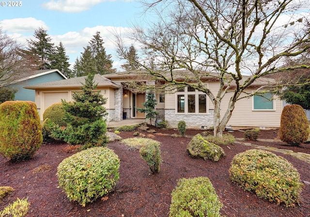
[[[150,1],[148,1],[150,2]],[[247,92],[255,81],[292,69],[283,67],[287,57],[298,57],[310,48],[309,11],[303,13],[296,0],[156,0],[146,3],[146,13],[155,12],[158,23],[136,26],[130,35],[143,48],[141,69],[171,85],[186,85],[206,93],[214,106],[214,135],[222,136],[237,100],[260,94]],[[116,34],[118,53],[127,53]],[[303,45],[303,46],[300,46]],[[141,49],[142,50],[142,49]],[[157,66],[150,67],[155,57]],[[181,74],[180,69],[186,69]],[[210,90],[202,78],[219,81]],[[179,78],[183,78],[180,80]],[[262,89],[261,89],[262,90]],[[227,110],[222,99],[230,93]],[[221,115],[222,114],[222,115]]]

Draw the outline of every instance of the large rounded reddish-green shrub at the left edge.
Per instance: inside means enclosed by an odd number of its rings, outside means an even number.
[[[42,144],[40,117],[34,102],[0,104],[0,154],[11,161],[27,160]]]

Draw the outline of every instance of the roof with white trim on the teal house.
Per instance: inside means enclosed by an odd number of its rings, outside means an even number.
[[[13,75],[10,77],[11,82],[9,82],[9,84],[14,84],[14,83],[24,81],[24,80],[28,80],[31,78],[44,76],[44,75],[47,75],[47,74],[53,73],[53,72],[58,72],[63,78],[67,79],[67,77],[65,77],[65,75],[63,75],[62,72],[59,71],[58,69],[45,69],[45,70],[26,71],[26,72],[22,72],[22,73],[18,73],[16,75]]]

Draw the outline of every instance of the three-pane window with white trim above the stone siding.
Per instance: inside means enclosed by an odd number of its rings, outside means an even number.
[[[176,93],[177,113],[200,114],[207,113],[207,95],[197,90],[184,87]]]

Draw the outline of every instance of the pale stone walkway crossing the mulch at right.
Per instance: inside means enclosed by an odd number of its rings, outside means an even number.
[[[292,150],[288,150],[288,149],[279,149],[279,148],[264,146],[264,145],[255,145],[249,142],[245,142],[243,139],[236,139],[236,140],[237,140],[235,141],[236,143],[239,143],[242,145],[251,146],[253,148],[263,149],[267,151],[279,152],[285,155],[291,155],[291,156],[298,158],[299,160],[303,160],[310,164],[310,154],[306,154],[302,152],[293,152]],[[260,141],[274,142],[274,140],[260,140]]]

